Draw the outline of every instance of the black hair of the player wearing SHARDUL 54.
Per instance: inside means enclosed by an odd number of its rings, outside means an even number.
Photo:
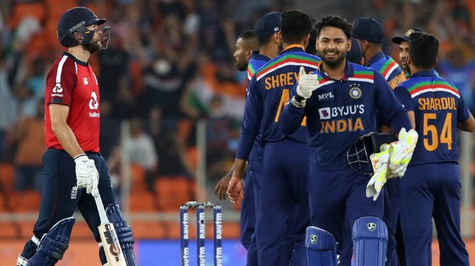
[[[414,32],[409,36],[409,55],[415,66],[432,68],[437,63],[439,41],[425,32]]]

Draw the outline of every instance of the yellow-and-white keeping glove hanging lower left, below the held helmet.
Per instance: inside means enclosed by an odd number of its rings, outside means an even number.
[[[373,201],[378,199],[382,186],[387,181],[388,175],[388,162],[394,147],[391,144],[381,145],[383,151],[379,153],[373,153],[370,156],[371,164],[373,165],[374,175],[366,185],[366,197],[373,197]]]

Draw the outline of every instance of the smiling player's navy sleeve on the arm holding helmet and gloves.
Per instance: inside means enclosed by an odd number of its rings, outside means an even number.
[[[380,110],[381,117],[391,122],[395,132],[399,132],[403,127],[407,130],[411,129],[411,122],[403,105],[398,101],[393,90],[389,87],[389,84],[382,75],[376,70],[373,72],[375,102],[376,107]]]

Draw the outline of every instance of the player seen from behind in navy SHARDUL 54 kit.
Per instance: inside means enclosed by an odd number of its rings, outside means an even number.
[[[437,76],[439,42],[427,33],[409,36],[411,77],[395,89],[415,117],[420,138],[400,180],[400,216],[405,265],[430,266],[432,218],[437,229],[440,265],[469,265],[460,235],[458,132],[473,132],[475,121],[457,87]]]

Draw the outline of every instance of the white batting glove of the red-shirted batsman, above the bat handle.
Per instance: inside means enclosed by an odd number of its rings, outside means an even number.
[[[87,157],[86,154],[76,156],[76,181],[77,189],[86,188],[86,193],[96,197],[99,194],[97,184],[99,184],[99,173],[95,168],[94,160]]]

